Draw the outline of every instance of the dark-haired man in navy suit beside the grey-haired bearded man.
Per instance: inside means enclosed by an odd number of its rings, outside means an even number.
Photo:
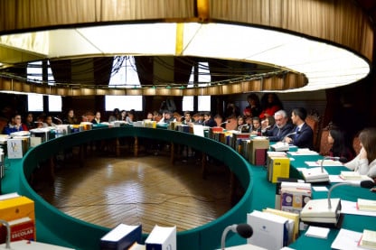
[[[287,144],[294,144],[299,148],[314,148],[314,131],[305,123],[306,110],[303,107],[296,107],[291,114],[291,120],[295,126],[294,130],[286,139]]]

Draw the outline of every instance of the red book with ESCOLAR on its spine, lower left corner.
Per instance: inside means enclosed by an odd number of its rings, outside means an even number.
[[[11,241],[35,240],[35,225],[33,219],[24,217],[8,221],[11,227]],[[0,244],[5,243],[6,227],[0,227]]]

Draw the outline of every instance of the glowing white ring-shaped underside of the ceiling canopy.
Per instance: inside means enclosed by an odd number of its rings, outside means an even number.
[[[305,74],[305,87],[284,92],[351,84],[371,70],[367,60],[329,43],[226,23],[137,23],[18,33],[0,36],[0,46],[50,60],[120,54],[195,56]],[[1,57],[0,62],[11,63]]]

